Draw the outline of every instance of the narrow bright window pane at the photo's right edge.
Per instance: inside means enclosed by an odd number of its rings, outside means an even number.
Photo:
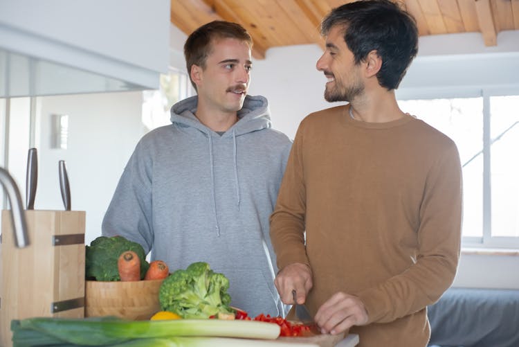
[[[519,96],[490,98],[492,236],[519,237]]]

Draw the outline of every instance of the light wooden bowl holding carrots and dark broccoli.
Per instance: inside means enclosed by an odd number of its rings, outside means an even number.
[[[84,316],[116,316],[132,321],[150,319],[161,310],[158,290],[162,281],[85,281]]]

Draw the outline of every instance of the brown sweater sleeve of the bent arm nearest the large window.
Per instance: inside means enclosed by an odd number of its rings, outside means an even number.
[[[453,282],[461,244],[462,170],[454,143],[442,154],[426,179],[414,264],[358,293],[368,323],[386,323],[422,310]]]

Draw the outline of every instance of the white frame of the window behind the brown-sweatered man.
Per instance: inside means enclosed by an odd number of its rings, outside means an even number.
[[[493,236],[491,206],[491,97],[519,96],[519,86],[495,86],[482,88],[417,89],[404,91],[397,100],[432,100],[444,98],[482,98],[483,100],[483,230],[482,237],[463,236],[462,247],[484,249],[519,249],[519,237]],[[419,115],[418,115],[419,116]]]

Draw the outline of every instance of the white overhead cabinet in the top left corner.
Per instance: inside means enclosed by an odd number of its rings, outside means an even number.
[[[168,0],[0,1],[0,48],[151,88],[169,26]]]

